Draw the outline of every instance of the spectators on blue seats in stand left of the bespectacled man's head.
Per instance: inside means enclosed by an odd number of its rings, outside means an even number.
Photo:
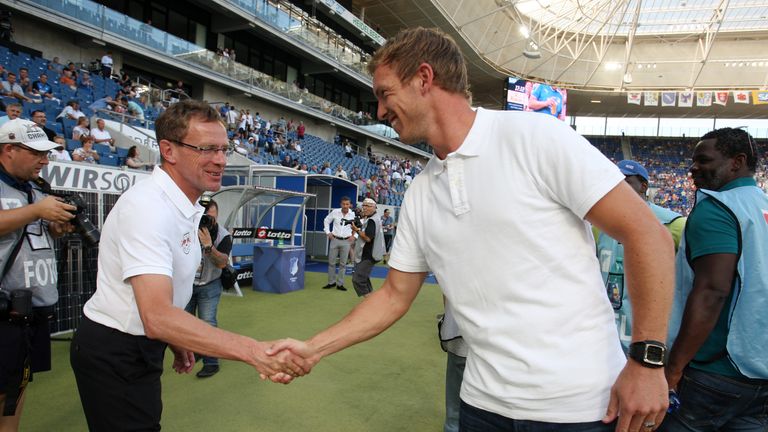
[[[16,118],[38,124],[50,140],[61,141],[64,147],[51,152],[51,159],[102,163],[111,154],[110,164],[128,163],[125,149],[115,148],[105,121],[91,125],[89,117],[96,114],[143,125],[147,114],[154,119],[164,109],[147,107],[126,74],[113,76],[110,52],[90,71],[74,62],[64,64],[59,57],[48,61],[7,50],[0,55],[0,110],[6,114],[0,124]]]

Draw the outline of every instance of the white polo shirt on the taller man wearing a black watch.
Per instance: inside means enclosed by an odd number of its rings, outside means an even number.
[[[554,117],[484,109],[414,179],[389,265],[431,269],[453,306],[465,402],[520,420],[605,415],[625,357],[583,218],[623,180]]]

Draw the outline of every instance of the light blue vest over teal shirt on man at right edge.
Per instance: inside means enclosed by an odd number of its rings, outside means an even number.
[[[713,199],[729,211],[739,225],[739,261],[728,309],[727,356],[748,378],[768,379],[768,196],[757,186],[715,192],[700,189],[696,202]],[[676,284],[669,323],[669,344],[680,331],[683,312],[693,289],[685,235],[675,263]],[[725,307],[725,306],[724,306]]]

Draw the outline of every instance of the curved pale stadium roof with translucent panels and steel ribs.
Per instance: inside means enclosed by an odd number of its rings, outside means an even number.
[[[385,37],[439,27],[462,46],[475,103],[501,107],[513,75],[577,90],[572,115],[658,115],[627,91],[768,86],[768,0],[353,0]],[[591,100],[601,100],[592,104]],[[595,106],[599,105],[599,106]],[[768,106],[665,108],[664,116],[768,117]]]

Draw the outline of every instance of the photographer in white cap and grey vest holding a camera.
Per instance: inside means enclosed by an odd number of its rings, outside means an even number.
[[[58,300],[53,237],[76,208],[33,187],[58,144],[29,120],[0,127],[0,430],[17,430],[32,373],[50,370],[48,320]]]

